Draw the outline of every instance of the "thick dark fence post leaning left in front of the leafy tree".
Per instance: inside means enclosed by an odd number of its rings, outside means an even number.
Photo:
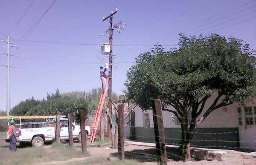
[[[164,137],[163,127],[163,114],[162,105],[160,99],[154,99],[153,119],[154,119],[154,130],[156,139],[156,149],[158,154],[158,163],[160,165],[167,165],[166,146]]]

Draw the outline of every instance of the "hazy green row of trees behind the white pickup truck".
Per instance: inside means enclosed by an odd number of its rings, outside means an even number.
[[[88,92],[73,91],[55,94],[47,93],[46,99],[35,100],[34,97],[21,101],[11,109],[11,115],[56,115],[75,113],[78,109],[86,110],[98,108],[99,98],[102,94],[101,88],[94,88]],[[112,94],[116,97],[116,94]],[[107,100],[107,98],[105,99]]]

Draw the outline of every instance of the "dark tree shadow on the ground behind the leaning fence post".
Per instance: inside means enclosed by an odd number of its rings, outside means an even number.
[[[178,148],[166,148],[167,159],[175,161],[180,160]],[[111,156],[118,157],[118,153],[112,153]],[[155,148],[135,149],[125,151],[125,159],[134,159],[138,162],[157,162],[157,153]]]

